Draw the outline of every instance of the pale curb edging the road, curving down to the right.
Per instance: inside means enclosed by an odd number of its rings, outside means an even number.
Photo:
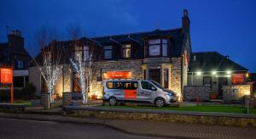
[[[36,117],[36,116],[48,116],[48,117]],[[71,124],[90,124],[90,125],[102,125],[106,126],[108,128],[111,128],[115,131],[120,131],[125,134],[130,134],[133,136],[150,136],[150,137],[165,137],[165,138],[180,138],[180,139],[195,139],[199,137],[189,137],[189,136],[169,136],[169,135],[160,135],[160,134],[150,134],[150,133],[139,133],[139,132],[131,132],[126,131],[125,129],[119,128],[117,126],[111,125],[106,120],[98,121],[98,122],[91,122],[91,121],[79,121],[79,118],[72,117],[72,116],[60,116],[62,118],[68,118],[73,120],[60,120],[57,117],[50,117],[46,114],[7,114],[7,113],[0,113],[0,118],[9,118],[9,119],[15,119],[15,120],[36,120],[36,121],[53,121],[58,123],[71,123]],[[74,120],[76,119],[76,120]],[[203,138],[202,138],[203,139]]]

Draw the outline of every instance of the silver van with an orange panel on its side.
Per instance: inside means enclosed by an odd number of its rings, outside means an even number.
[[[103,81],[104,102],[117,103],[154,103],[157,107],[177,102],[175,92],[165,89],[155,81],[107,80]]]

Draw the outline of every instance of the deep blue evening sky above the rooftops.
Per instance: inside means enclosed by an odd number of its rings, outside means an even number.
[[[0,0],[0,42],[6,28],[19,29],[32,53],[35,32],[54,27],[67,39],[67,25],[86,36],[181,27],[189,9],[193,52],[218,51],[256,72],[256,1],[247,0]]]

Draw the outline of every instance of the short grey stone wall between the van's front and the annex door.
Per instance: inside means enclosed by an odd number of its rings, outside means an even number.
[[[184,101],[208,101],[210,99],[209,86],[184,86]]]

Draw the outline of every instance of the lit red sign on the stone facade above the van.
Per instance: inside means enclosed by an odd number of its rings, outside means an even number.
[[[131,79],[131,71],[107,71],[103,79]]]

